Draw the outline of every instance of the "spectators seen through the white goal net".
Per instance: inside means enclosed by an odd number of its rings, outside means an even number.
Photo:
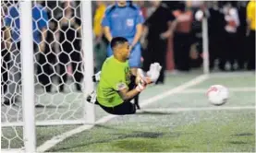
[[[67,76],[81,91],[81,37],[79,1],[34,1],[32,3],[33,50],[36,85],[52,92],[65,92]],[[1,87],[4,103],[21,96],[20,23],[18,1],[1,2]]]

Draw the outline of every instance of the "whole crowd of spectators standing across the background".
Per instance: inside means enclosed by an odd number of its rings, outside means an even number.
[[[94,1],[91,4],[95,71],[101,69],[109,43],[102,27],[105,10],[107,6],[115,3]],[[46,92],[51,92],[52,77],[56,76],[58,91],[64,92],[69,74],[73,76],[76,88],[80,91],[80,2],[35,1],[32,4],[37,82],[43,85]],[[159,56],[158,59],[168,70],[187,72],[193,67],[201,67],[203,12],[208,20],[210,69],[218,67],[222,71],[255,70],[254,1],[133,1],[132,4],[140,6],[145,20],[140,39],[142,65],[146,65],[145,60]],[[13,100],[12,93],[17,92],[21,75],[19,5],[17,1],[4,1],[1,5],[1,85],[4,92],[9,87],[7,97],[8,100]],[[162,8],[165,11],[162,11]],[[166,36],[165,44],[153,33],[163,32],[166,28],[166,21],[157,19],[169,19],[169,16],[172,16],[177,24],[172,33],[162,35]],[[165,52],[159,53],[158,50]]]

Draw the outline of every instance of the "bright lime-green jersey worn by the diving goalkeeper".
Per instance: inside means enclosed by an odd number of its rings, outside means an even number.
[[[97,86],[97,100],[105,107],[115,107],[123,102],[118,90],[128,88],[130,71],[128,62],[122,63],[114,56],[105,60]]]

